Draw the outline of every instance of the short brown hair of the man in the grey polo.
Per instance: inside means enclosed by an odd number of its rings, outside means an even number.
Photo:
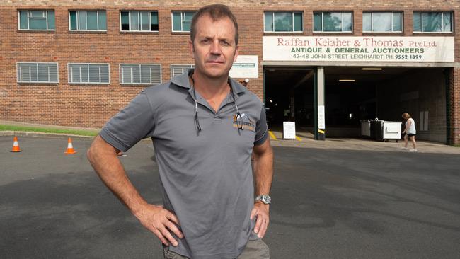
[[[223,4],[211,4],[209,6],[203,6],[198,10],[192,18],[192,24],[190,25],[190,40],[195,40],[197,35],[197,21],[200,17],[209,15],[212,18],[212,21],[218,21],[222,18],[229,18],[235,26],[235,45],[238,45],[238,23],[236,23],[236,18],[231,12],[229,6]]]

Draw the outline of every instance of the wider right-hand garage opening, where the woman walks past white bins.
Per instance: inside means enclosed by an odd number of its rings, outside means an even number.
[[[360,120],[416,122],[418,139],[447,142],[444,68],[325,67],[328,137],[359,137]]]

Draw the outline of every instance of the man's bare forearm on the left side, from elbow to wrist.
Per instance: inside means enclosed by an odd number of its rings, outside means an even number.
[[[113,146],[98,136],[88,149],[87,156],[100,180],[133,214],[139,212],[142,205],[147,204],[127,178],[125,168],[118,159],[117,151]]]

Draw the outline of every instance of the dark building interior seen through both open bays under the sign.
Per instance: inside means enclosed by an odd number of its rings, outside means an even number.
[[[360,120],[401,121],[408,112],[422,138],[444,142],[446,89],[442,68],[325,67],[325,122],[328,137],[360,137]],[[265,107],[270,128],[296,122],[314,130],[314,69],[267,67]],[[425,114],[426,113],[426,114]],[[423,120],[426,120],[423,121]],[[422,125],[420,122],[422,121]]]

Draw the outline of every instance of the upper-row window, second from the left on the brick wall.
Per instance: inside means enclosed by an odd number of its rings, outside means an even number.
[[[69,11],[70,30],[107,30],[105,11]]]

